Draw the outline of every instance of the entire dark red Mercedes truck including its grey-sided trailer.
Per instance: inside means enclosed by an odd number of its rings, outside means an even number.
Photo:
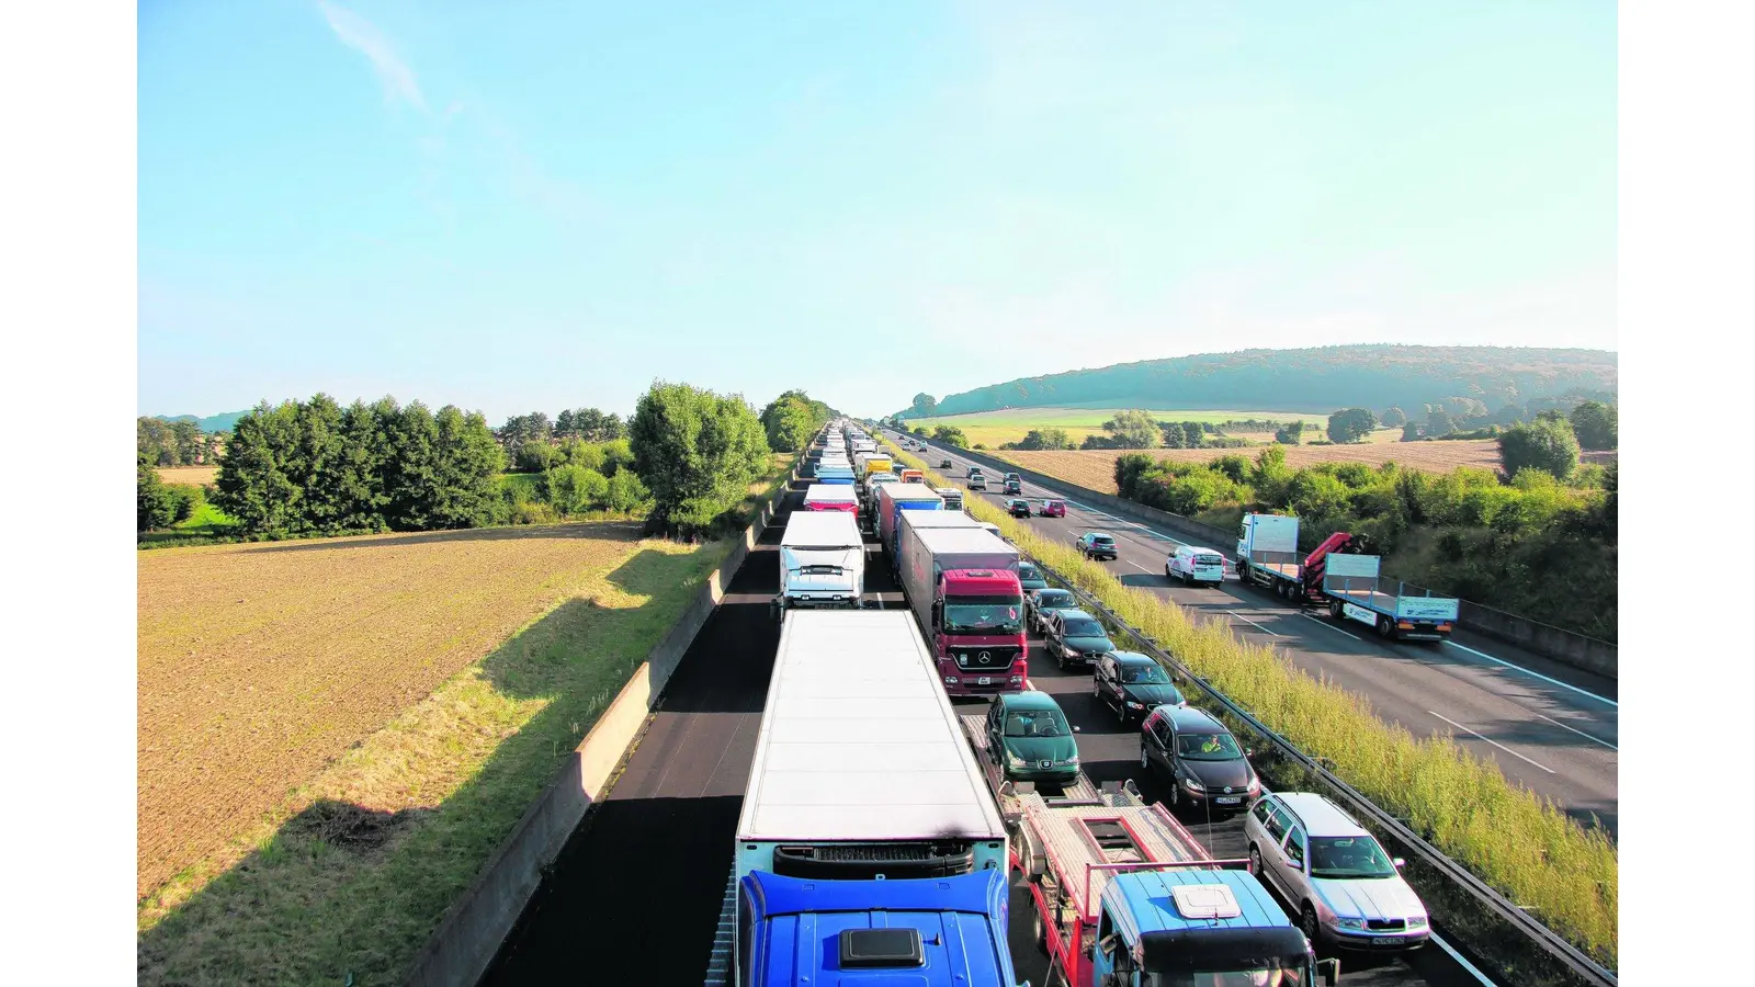
[[[951,695],[1021,692],[1028,678],[1018,550],[963,527],[902,530],[902,594]]]

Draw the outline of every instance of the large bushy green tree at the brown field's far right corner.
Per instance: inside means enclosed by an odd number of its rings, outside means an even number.
[[[742,397],[655,381],[628,427],[634,472],[653,492],[653,530],[700,532],[734,508],[767,462],[767,437]]]

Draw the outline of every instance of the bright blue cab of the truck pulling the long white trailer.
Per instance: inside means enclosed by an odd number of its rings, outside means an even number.
[[[1014,987],[1006,876],[816,880],[737,889],[741,987]],[[1028,985],[1025,985],[1028,987]]]

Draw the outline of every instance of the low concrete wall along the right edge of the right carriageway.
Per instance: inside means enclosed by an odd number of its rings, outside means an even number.
[[[1000,474],[1016,472],[1032,483],[1058,486],[1093,508],[1157,527],[1185,541],[1204,544],[1221,553],[1227,560],[1236,562],[1230,550],[1237,544],[1237,532],[1204,525],[1197,520],[1148,508],[1144,504],[1135,504],[1132,501],[1123,501],[1114,494],[1100,494],[1088,486],[1067,483],[1058,476],[1035,472],[1014,462],[1006,462],[979,451],[960,450],[960,455],[972,458],[985,467],[997,469]],[[1595,638],[1562,630],[1558,627],[1529,620],[1515,613],[1506,613],[1502,609],[1494,609],[1490,606],[1481,606],[1472,601],[1462,601],[1457,623],[1458,627],[1465,627],[1483,638],[1516,645],[1560,664],[1585,669],[1604,678],[1618,678],[1616,671],[1620,662],[1616,657],[1616,646],[1608,641],[1597,641]]]

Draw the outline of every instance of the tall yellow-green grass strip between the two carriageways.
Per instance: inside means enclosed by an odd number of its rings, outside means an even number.
[[[918,458],[893,455],[925,471]],[[949,485],[927,472],[934,485]],[[1364,697],[1311,678],[1274,648],[1243,641],[1221,623],[1193,622],[1176,602],[1121,585],[1104,567],[979,497],[963,502],[971,515],[1000,525],[1020,550],[1067,574],[1269,729],[1329,759],[1341,780],[1443,854],[1604,966],[1615,966],[1620,868],[1608,838],[1511,785],[1495,764],[1451,739],[1420,739],[1385,724]]]

